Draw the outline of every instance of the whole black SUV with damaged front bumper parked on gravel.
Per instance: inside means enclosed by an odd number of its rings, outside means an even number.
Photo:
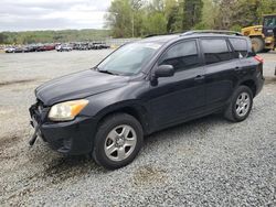
[[[215,31],[146,37],[38,87],[30,144],[39,135],[59,152],[92,153],[118,168],[135,159],[144,135],[220,111],[243,121],[263,84],[263,59],[248,37]]]

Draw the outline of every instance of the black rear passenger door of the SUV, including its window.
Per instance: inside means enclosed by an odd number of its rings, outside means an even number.
[[[226,39],[201,39],[200,45],[204,58],[206,110],[212,111],[223,107],[232,96],[240,63]]]

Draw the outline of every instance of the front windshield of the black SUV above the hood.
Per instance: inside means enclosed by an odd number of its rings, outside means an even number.
[[[104,59],[97,69],[117,75],[138,74],[160,46],[158,43],[126,44]]]

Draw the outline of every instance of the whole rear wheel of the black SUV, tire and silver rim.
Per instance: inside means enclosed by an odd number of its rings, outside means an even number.
[[[253,94],[247,86],[240,86],[231,98],[231,102],[225,110],[225,118],[238,122],[245,120],[253,105]]]

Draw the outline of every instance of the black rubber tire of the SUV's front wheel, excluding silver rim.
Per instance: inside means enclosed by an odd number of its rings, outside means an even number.
[[[135,146],[132,146],[131,153],[129,153],[129,155],[126,159],[121,161],[114,161],[108,157],[105,151],[106,148],[108,148],[106,146],[106,142],[108,139],[107,137],[109,132],[112,132],[116,127],[125,126],[125,124],[130,127],[135,131],[135,134],[137,137],[136,144]],[[94,141],[93,159],[97,164],[108,170],[123,167],[131,163],[135,160],[136,155],[139,153],[142,146],[142,140],[144,140],[142,128],[137,119],[135,119],[132,116],[127,115],[127,113],[110,115],[102,121],[102,123],[99,124],[97,129],[95,141]],[[126,148],[128,146],[121,146],[121,148],[124,148],[124,152],[126,152]]]

